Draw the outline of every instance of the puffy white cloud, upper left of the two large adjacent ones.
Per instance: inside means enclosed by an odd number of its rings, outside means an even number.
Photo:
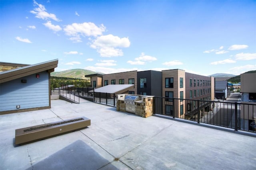
[[[66,35],[70,36],[70,40],[73,42],[82,42],[81,37],[102,35],[102,32],[106,30],[106,27],[101,24],[99,27],[92,22],[84,23],[72,23],[71,25],[66,25],[63,29]]]

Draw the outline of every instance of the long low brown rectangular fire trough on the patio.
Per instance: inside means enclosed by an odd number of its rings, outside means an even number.
[[[53,123],[46,123],[15,130],[15,145],[31,143],[47,139],[64,133],[77,131],[91,125],[91,120],[86,117],[67,119]]]

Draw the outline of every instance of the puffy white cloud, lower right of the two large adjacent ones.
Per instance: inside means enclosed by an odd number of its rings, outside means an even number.
[[[119,48],[126,48],[130,46],[128,37],[120,38],[112,34],[102,35],[92,40],[91,48],[97,49],[101,57],[117,57],[124,55]]]

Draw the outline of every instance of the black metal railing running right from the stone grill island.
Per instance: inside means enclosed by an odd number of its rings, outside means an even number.
[[[154,97],[154,113],[256,133],[256,105]]]

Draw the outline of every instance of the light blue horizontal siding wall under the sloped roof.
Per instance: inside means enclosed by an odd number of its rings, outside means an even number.
[[[18,78],[0,84],[0,111],[29,109],[35,107],[49,106],[49,80],[48,72]],[[21,80],[27,80],[22,83]]]

